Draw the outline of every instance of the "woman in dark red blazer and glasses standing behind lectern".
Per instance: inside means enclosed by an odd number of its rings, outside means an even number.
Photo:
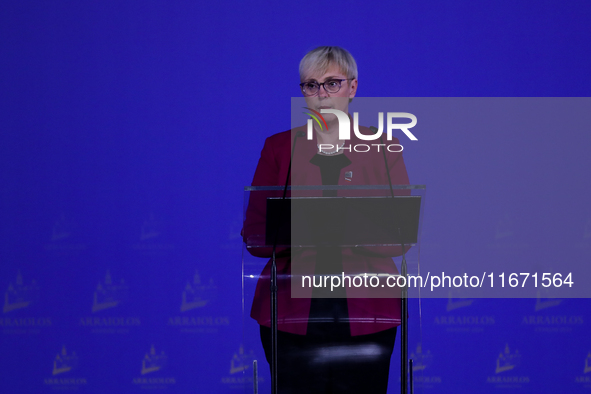
[[[334,46],[316,48],[301,60],[299,72],[300,89],[311,113],[323,109],[349,113],[358,75],[348,51]],[[367,141],[354,133],[351,140],[340,140],[337,116],[326,113],[322,118],[313,123],[311,139],[306,138],[305,127],[268,137],[252,186],[283,186],[287,181],[291,185],[387,185],[388,176],[392,184],[409,184],[402,153],[344,149],[346,144]],[[395,139],[389,142],[398,143]],[[337,190],[323,190],[322,196],[337,196]],[[247,244],[250,236],[261,232],[264,211],[262,203],[251,199],[243,228]],[[268,248],[249,251],[270,257]],[[313,288],[310,297],[294,298],[290,277],[296,263],[312,267],[314,275],[397,274],[392,256],[401,254],[399,247],[277,250],[280,393],[386,393],[396,327],[400,325],[400,302],[353,296],[346,288]],[[270,262],[258,280],[251,317],[260,324],[265,356],[271,363],[269,278]]]

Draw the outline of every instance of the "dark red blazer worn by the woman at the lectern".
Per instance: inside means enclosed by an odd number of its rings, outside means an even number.
[[[360,128],[364,134],[371,134],[367,128]],[[283,186],[287,176],[291,155],[292,141],[297,131],[304,128],[288,130],[267,138],[261,152],[252,186]],[[362,141],[352,133],[351,145],[372,144],[379,141]],[[384,143],[398,144],[398,140]],[[346,146],[349,143],[345,144]],[[381,147],[383,149],[383,147]],[[322,185],[320,169],[310,163],[317,153],[317,142],[308,141],[305,137],[298,137],[290,176],[292,185]],[[394,149],[392,149],[394,150]],[[370,152],[355,153],[344,151],[351,164],[341,170],[339,185],[388,185],[388,176],[381,151],[376,147]],[[402,158],[402,153],[386,152],[386,160],[393,185],[408,185],[408,175]],[[347,175],[347,177],[345,177]],[[405,193],[406,192],[406,193]],[[294,192],[295,193],[295,192]],[[389,195],[389,190],[387,191]],[[407,191],[398,191],[398,194],[408,194]],[[277,192],[281,194],[281,192]],[[255,238],[264,233],[265,209],[263,199],[257,201],[251,197],[243,226],[243,238],[247,246],[253,242],[259,242]],[[270,257],[268,248],[248,248],[249,252],[258,257]],[[374,272],[397,274],[391,256],[402,254],[400,247],[381,247],[367,250],[367,248],[342,249],[343,271],[345,274]],[[277,258],[278,273],[278,327],[281,331],[294,334],[306,334],[308,316],[310,312],[310,297],[292,297],[290,277],[292,264],[298,268],[298,273],[314,273],[315,251],[306,250],[279,250]],[[270,326],[270,261],[263,269],[255,290],[251,317],[259,324]],[[347,304],[351,335],[365,335],[400,325],[399,299],[391,298],[365,298],[364,289],[347,289]],[[300,292],[301,293],[301,292]],[[311,289],[309,296],[311,296]],[[397,293],[399,294],[399,292]],[[367,294],[369,296],[369,294]],[[301,294],[300,294],[301,297]],[[375,294],[371,297],[375,297]]]

